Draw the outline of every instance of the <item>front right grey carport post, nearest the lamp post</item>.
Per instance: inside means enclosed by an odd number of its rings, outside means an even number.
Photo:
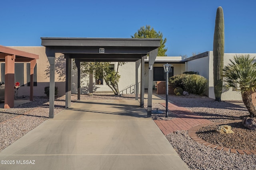
[[[152,113],[152,93],[153,93],[153,65],[156,60],[158,49],[154,49],[149,52],[148,56],[148,114],[147,117],[151,117]]]

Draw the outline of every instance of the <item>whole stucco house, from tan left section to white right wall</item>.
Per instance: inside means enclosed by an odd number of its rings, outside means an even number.
[[[44,94],[44,87],[49,86],[50,75],[49,69],[50,64],[46,57],[45,47],[11,47],[34,53],[39,55],[36,67],[34,69],[34,96],[46,96]],[[224,54],[224,65],[229,63],[229,59],[234,57],[234,53]],[[256,56],[256,54],[250,54]],[[55,86],[58,87],[58,96],[65,95],[65,59],[61,53],[56,53],[56,67],[55,67]],[[185,71],[196,71],[200,75],[204,76],[208,80],[208,88],[206,95],[210,98],[214,97],[213,88],[213,52],[207,51],[205,53],[198,54],[196,56],[182,60],[182,57],[156,57],[154,63],[154,77],[153,84],[158,81],[165,81],[165,74],[163,70],[163,64],[172,64],[172,69],[169,76],[181,74]],[[75,64],[72,63],[75,68]],[[111,63],[112,67],[116,69],[117,62]],[[21,87],[19,88],[18,96],[28,96],[30,93],[30,77],[28,75],[29,68],[28,63],[16,63],[15,64],[15,82],[20,82]],[[0,64],[1,68],[1,81],[4,81],[4,63]],[[148,59],[145,59],[145,88],[148,88]],[[140,70],[140,69],[139,69]],[[136,63],[128,62],[123,66],[119,67],[119,74],[121,75],[119,82],[120,93],[131,94],[135,91],[135,72]],[[138,73],[140,80],[140,72]],[[139,82],[140,84],[140,82]],[[140,87],[140,86],[139,86]],[[152,87],[153,88],[153,87]],[[94,93],[112,93],[112,90],[106,85],[104,80],[96,80],[92,75],[86,75],[81,72],[81,94],[88,94],[89,92]],[[72,70],[72,94],[77,93],[77,70]],[[222,94],[222,100],[242,100],[241,95],[231,90],[224,90]]]

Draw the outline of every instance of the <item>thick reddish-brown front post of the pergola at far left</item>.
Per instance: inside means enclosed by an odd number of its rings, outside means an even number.
[[[14,107],[14,61],[15,55],[7,55],[5,57],[5,109]]]

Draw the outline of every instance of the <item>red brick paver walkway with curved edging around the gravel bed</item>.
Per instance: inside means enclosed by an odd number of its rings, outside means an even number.
[[[164,107],[166,106],[165,103],[161,103],[161,104]],[[206,147],[210,147],[212,149],[224,150],[227,152],[239,153],[239,154],[256,154],[256,150],[240,150],[240,149],[220,147],[220,146],[208,143],[203,139],[200,139],[196,135],[196,131],[198,131],[198,129],[200,129],[201,127],[208,126],[208,125],[216,125],[216,123],[213,123],[205,119],[204,117],[193,113],[192,111],[186,109],[185,107],[179,107],[172,103],[168,103],[168,109],[172,111],[172,113],[175,113],[178,117],[171,120],[154,120],[154,122],[159,127],[159,129],[164,133],[164,135],[173,133],[174,131],[178,131],[178,130],[188,130],[188,135],[190,135],[190,137],[194,141],[201,143]],[[240,121],[240,120],[235,120],[235,121]]]

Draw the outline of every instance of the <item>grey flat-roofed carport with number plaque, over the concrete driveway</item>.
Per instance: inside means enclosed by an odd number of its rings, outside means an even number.
[[[160,39],[137,38],[58,38],[41,37],[50,63],[50,110],[54,118],[55,53],[66,58],[66,108],[71,105],[71,59],[78,67],[78,100],[80,100],[80,62],[136,62],[136,100],[138,100],[138,68],[141,64],[140,107],[144,106],[144,58],[149,56],[148,87],[153,86],[153,64],[160,46]],[[148,113],[152,111],[152,88],[148,88]]]

